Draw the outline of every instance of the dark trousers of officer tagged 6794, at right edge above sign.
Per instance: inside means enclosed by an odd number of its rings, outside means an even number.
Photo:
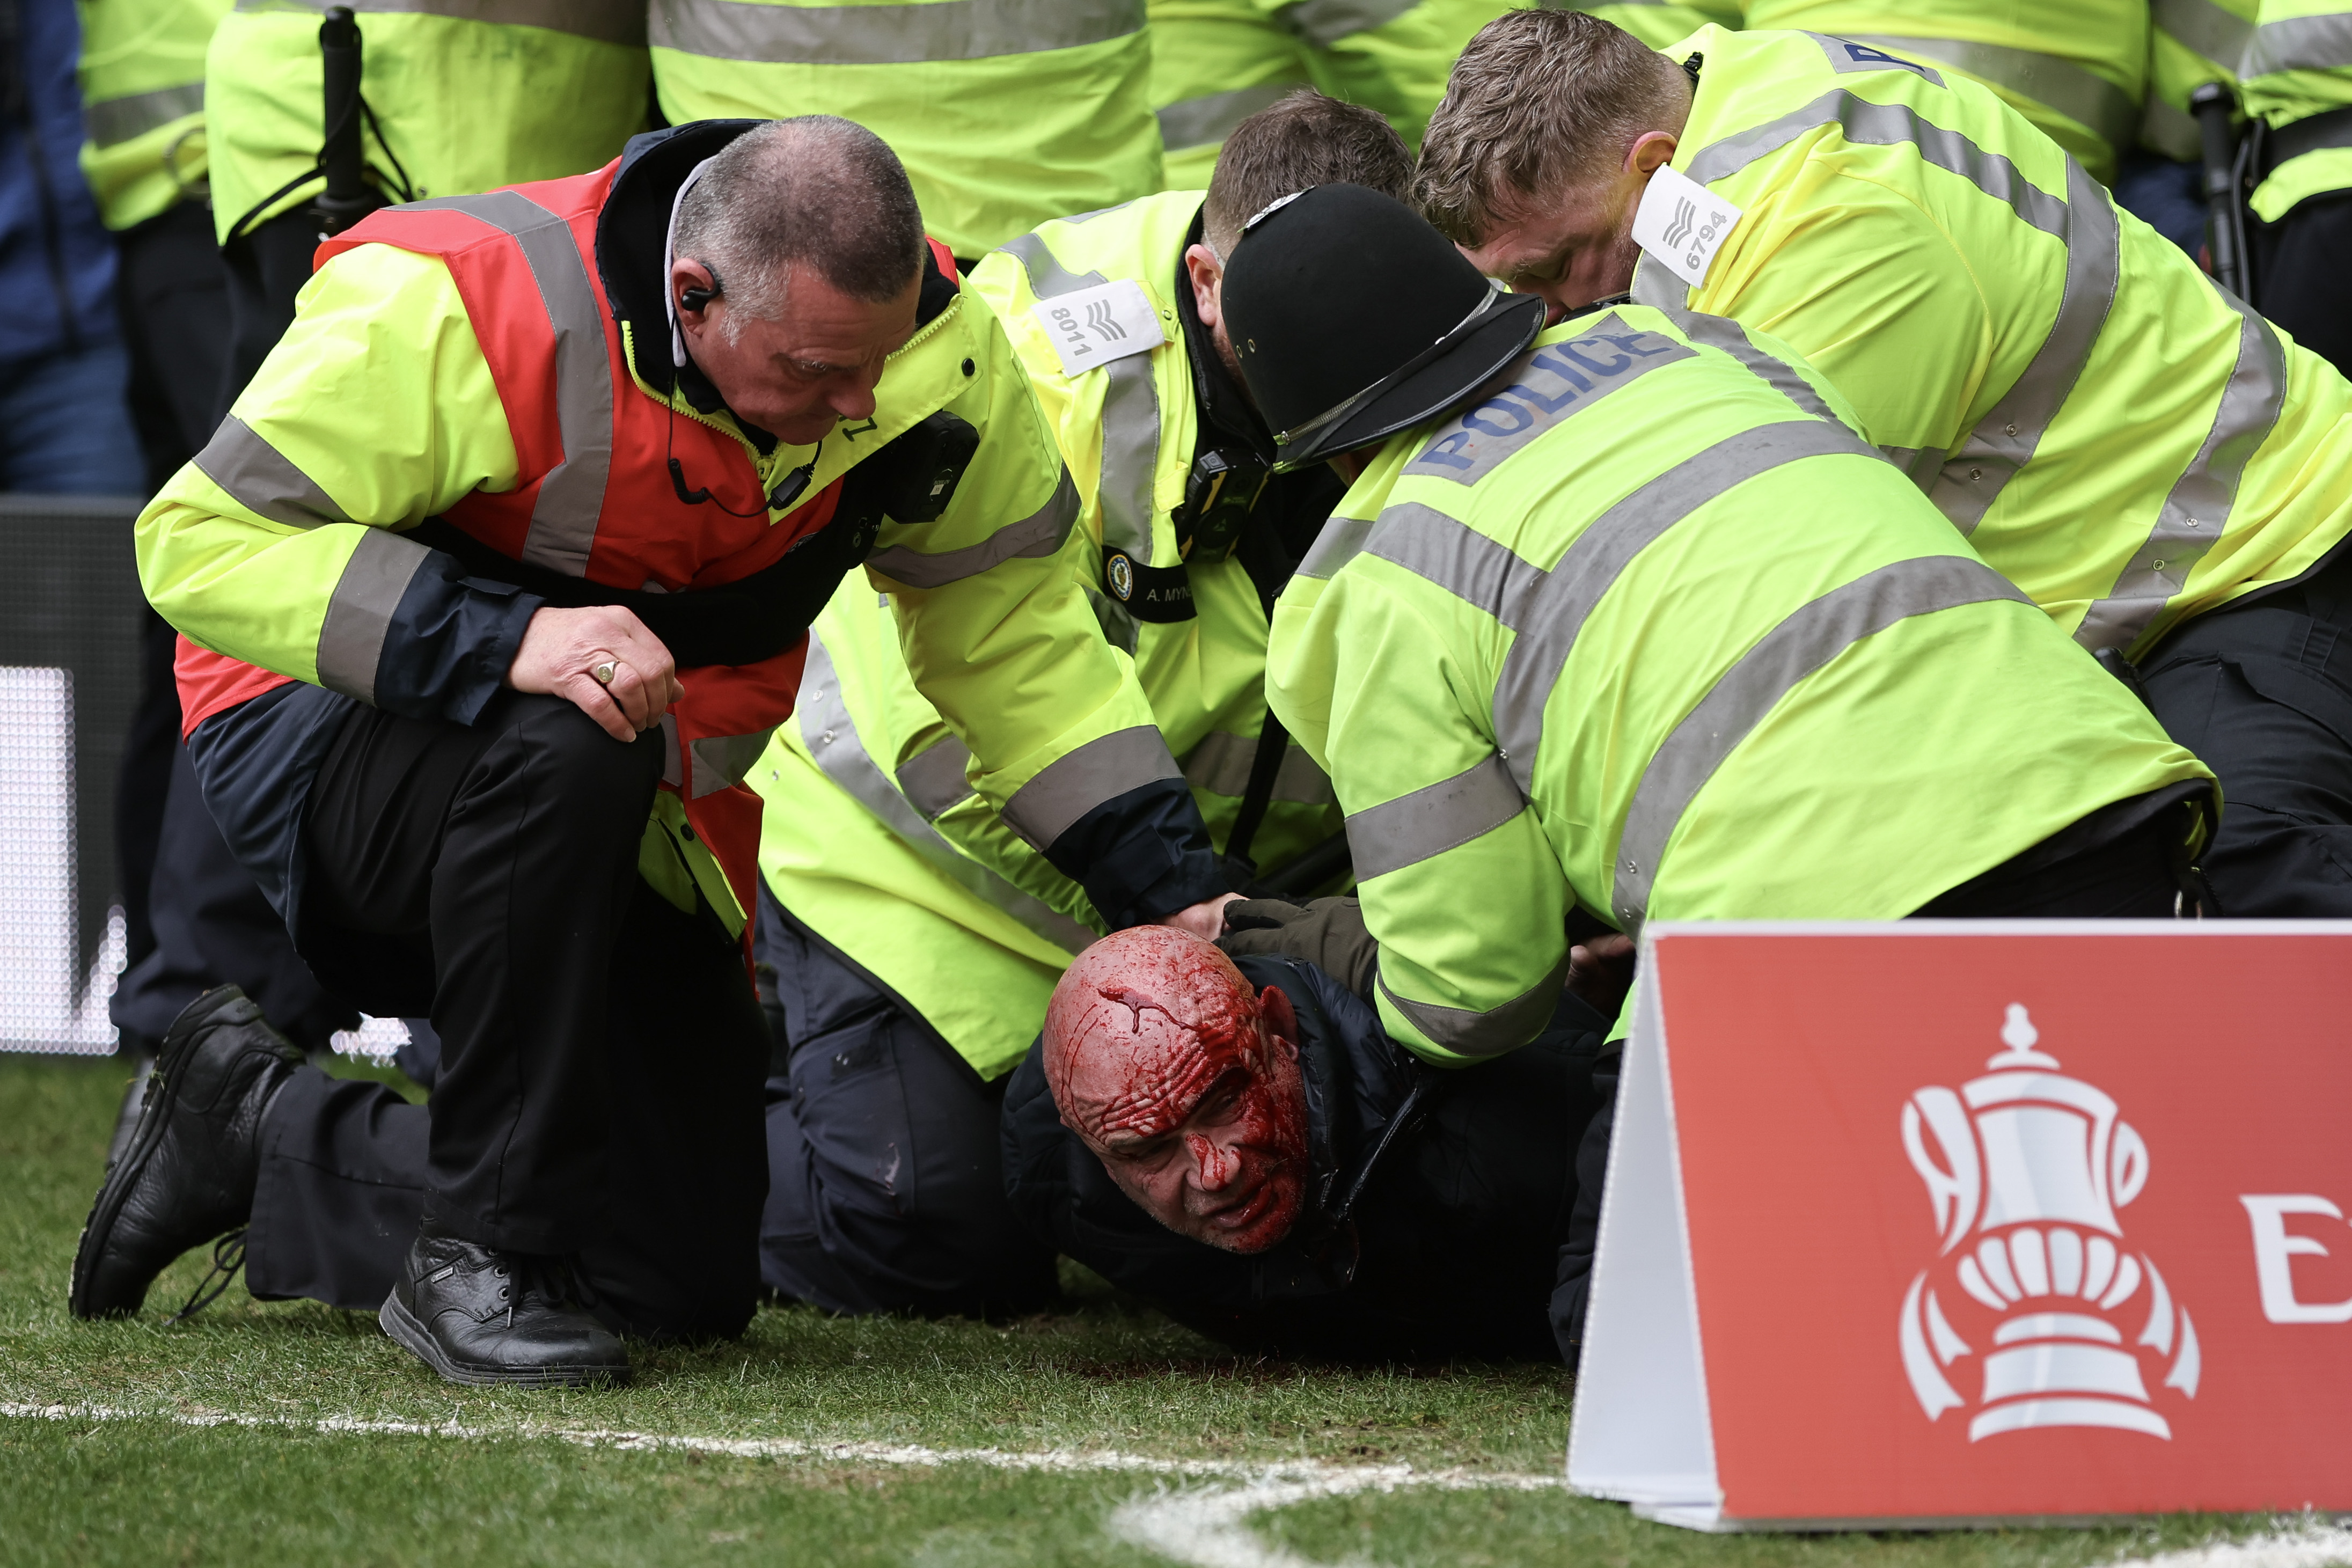
[[[2352,914],[2352,552],[2206,611],[2140,661],[2147,705],[2220,776],[2223,914]]]

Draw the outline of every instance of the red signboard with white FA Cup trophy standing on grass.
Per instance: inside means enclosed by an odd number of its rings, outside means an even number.
[[[1653,926],[1569,1486],[2352,1509],[2352,922]]]

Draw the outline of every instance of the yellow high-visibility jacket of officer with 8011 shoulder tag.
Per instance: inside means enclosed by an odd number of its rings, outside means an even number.
[[[1127,555],[1167,571],[1178,559],[1174,512],[1200,409],[1174,289],[1197,214],[1200,193],[1169,193],[1047,223],[981,261],[969,287],[1002,317],[1077,482],[1077,534],[1094,545],[1077,559],[1080,583],[1223,846],[1265,724],[1258,590],[1240,559],[1195,557],[1192,616],[1138,621],[1108,564]],[[1110,280],[1143,289],[1167,339],[1065,374],[1033,308]],[[1054,980],[1101,922],[1080,886],[971,792],[964,759],[908,677],[887,611],[844,585],[811,632],[800,715],[753,771],[767,797],[760,860],[797,919],[995,1077],[1028,1051]],[[1331,783],[1294,743],[1251,858],[1272,870],[1338,830]]]

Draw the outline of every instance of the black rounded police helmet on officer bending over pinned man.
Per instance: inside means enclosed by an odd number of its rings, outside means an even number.
[[[1310,186],[1254,216],[1225,263],[1225,334],[1275,430],[1275,468],[1446,411],[1543,331],[1395,197]]]

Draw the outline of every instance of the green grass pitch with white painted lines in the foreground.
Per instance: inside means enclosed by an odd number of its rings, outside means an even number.
[[[66,1274],[122,1081],[0,1056],[9,1568],[1171,1561],[1157,1547],[1282,1568],[2072,1568],[2265,1526],[1693,1535],[1557,1486],[1562,1368],[1232,1356],[1075,1269],[1065,1312],[1002,1326],[767,1307],[741,1342],[633,1347],[637,1382],[612,1392],[456,1389],[369,1314],[242,1284],[165,1326],[200,1258],[139,1321],[75,1324]],[[1263,1507],[1216,1512],[1251,1483]]]

